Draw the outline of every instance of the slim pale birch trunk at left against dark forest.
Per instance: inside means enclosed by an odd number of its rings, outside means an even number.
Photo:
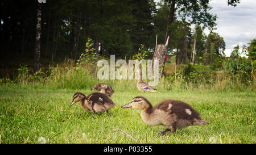
[[[34,73],[40,68],[40,35],[41,35],[41,5],[38,3],[38,14],[36,22],[36,40],[35,40],[35,55],[34,55]]]

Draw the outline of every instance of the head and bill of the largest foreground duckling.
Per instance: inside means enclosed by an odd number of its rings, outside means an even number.
[[[130,103],[125,104],[122,108],[146,109],[152,107],[151,103],[144,97],[135,97]]]

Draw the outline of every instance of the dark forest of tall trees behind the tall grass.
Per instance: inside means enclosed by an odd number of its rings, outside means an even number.
[[[228,4],[235,6],[239,2]],[[88,37],[93,40],[97,55],[130,58],[143,44],[152,58],[156,35],[159,43],[165,43],[170,36],[167,54],[176,56],[176,64],[191,61],[192,51],[195,61],[213,56],[211,52],[223,54],[223,38],[214,32],[210,36],[203,33],[203,28],[216,26],[216,15],[208,12],[208,0],[166,0],[157,5],[158,9],[152,0],[47,0],[40,5],[38,1],[1,1],[1,59],[31,60],[40,43],[41,62],[77,60]],[[40,42],[36,42],[39,7]],[[185,20],[187,16],[191,20]],[[190,26],[200,23],[193,50],[195,31]]]

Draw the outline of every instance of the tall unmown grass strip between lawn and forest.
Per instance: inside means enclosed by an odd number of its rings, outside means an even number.
[[[167,66],[167,69],[170,66]],[[179,67],[180,68],[180,67]],[[245,82],[240,77],[225,70],[212,71],[209,67],[200,66],[199,72],[184,74],[184,69],[168,77],[162,77],[156,89],[175,91],[255,91],[255,73]],[[90,63],[76,64],[73,60],[66,60],[63,64],[49,65],[48,69],[31,73],[26,65],[20,66],[18,77],[11,81],[8,78],[0,79],[0,85],[34,85],[49,89],[84,89],[89,90],[96,83],[106,82],[118,91],[131,91],[136,88],[137,79],[98,79],[96,65]],[[168,72],[168,70],[167,70]],[[147,81],[147,80],[145,80]]]

